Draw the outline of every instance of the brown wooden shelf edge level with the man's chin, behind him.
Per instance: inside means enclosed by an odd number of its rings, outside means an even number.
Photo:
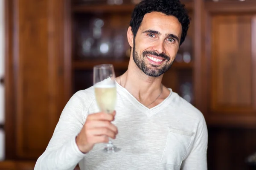
[[[113,64],[114,68],[117,70],[126,70],[128,68],[129,60],[110,60],[110,59],[99,59],[99,60],[77,60],[73,61],[73,70],[92,70],[94,65],[100,64]],[[189,62],[174,62],[172,65],[173,69],[193,69],[194,63]],[[171,69],[172,69],[171,68]]]

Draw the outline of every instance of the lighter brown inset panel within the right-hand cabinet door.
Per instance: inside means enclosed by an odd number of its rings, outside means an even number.
[[[211,110],[255,113],[251,14],[212,16]]]

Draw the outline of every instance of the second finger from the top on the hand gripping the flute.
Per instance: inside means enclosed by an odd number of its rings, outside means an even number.
[[[117,127],[113,125],[109,121],[102,121],[102,120],[87,120],[85,122],[86,129],[94,129],[99,127],[105,127],[109,130],[112,130],[114,133],[118,133]]]

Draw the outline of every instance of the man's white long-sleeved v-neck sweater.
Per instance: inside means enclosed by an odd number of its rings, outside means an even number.
[[[76,145],[90,113],[99,112],[94,88],[78,91],[61,113],[45,152],[35,170],[207,170],[208,133],[204,116],[172,92],[159,105],[148,109],[125,88],[117,85],[118,135],[113,140],[121,150],[103,153],[96,144],[83,154]]]

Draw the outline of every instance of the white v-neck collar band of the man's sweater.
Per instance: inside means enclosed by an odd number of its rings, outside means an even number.
[[[126,90],[126,88],[119,85],[118,82],[116,82],[116,88],[122,98],[125,97],[128,99],[135,107],[137,107],[143,113],[146,113],[148,116],[152,116],[153,114],[158,113],[167,105],[169,105],[172,101],[171,98],[173,97],[172,89],[168,88],[170,90],[170,94],[166,97],[166,99],[164,99],[160,104],[154,106],[153,108],[147,108],[145,105],[140,103],[128,90]]]

